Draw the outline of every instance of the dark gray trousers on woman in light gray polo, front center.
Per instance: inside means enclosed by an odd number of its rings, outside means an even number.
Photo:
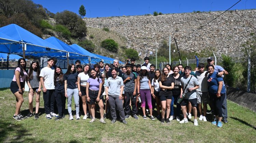
[[[125,120],[125,112],[123,108],[123,100],[119,100],[119,97],[109,96],[110,113],[113,119],[116,119],[116,109],[119,112],[120,120]]]

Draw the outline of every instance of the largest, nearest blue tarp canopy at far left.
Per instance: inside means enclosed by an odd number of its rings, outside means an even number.
[[[44,41],[42,38],[34,35],[33,33],[23,29],[22,27],[16,24],[10,24],[10,25],[1,27],[0,32],[12,38],[12,39],[8,38],[10,42],[6,42],[6,44],[0,45],[0,52],[22,54],[23,53],[22,43],[26,43],[26,46],[24,46],[26,47],[26,51],[25,51],[26,55],[43,57],[45,55],[52,56],[53,52],[55,53],[55,55],[58,53],[59,56],[66,55],[65,49],[63,49],[62,47],[56,47],[51,43]],[[3,38],[0,37],[2,42],[3,40],[8,41]],[[10,44],[12,40],[16,41],[16,44]]]

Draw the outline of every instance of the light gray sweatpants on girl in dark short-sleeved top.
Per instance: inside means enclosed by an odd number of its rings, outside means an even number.
[[[76,114],[79,114],[78,89],[77,88],[76,89],[67,89],[67,95],[68,95],[68,112],[69,112],[69,114],[72,114],[72,109],[71,109],[72,96],[74,96]]]

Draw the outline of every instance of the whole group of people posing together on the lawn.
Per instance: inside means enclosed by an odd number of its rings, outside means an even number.
[[[111,114],[111,123],[117,121],[116,113],[119,114],[118,117],[124,124],[127,124],[125,119],[131,115],[134,119],[139,119],[140,102],[142,118],[146,120],[146,114],[149,114],[149,118],[155,120],[153,109],[156,108],[156,118],[160,119],[161,124],[165,122],[170,124],[170,121],[175,118],[181,124],[188,123],[187,118],[191,119],[193,109],[194,125],[198,126],[197,108],[200,113],[199,120],[207,121],[207,104],[215,114],[212,124],[222,127],[222,120],[227,123],[226,91],[222,76],[228,72],[221,66],[214,65],[211,57],[207,60],[207,71],[205,71],[205,65],[199,63],[196,72],[191,71],[190,66],[183,68],[182,64],[173,68],[167,64],[160,71],[155,69],[155,65],[149,63],[148,57],[145,57],[144,61],[142,65],[135,65],[135,60],[132,58],[127,60],[124,67],[119,68],[118,60],[114,60],[111,65],[105,64],[105,66],[101,61],[91,68],[89,65],[83,67],[77,60],[76,64],[70,64],[67,72],[63,74],[62,69],[55,65],[57,60],[51,58],[41,71],[38,61],[34,60],[27,74],[26,61],[21,58],[18,60],[18,66],[11,82],[11,91],[17,101],[13,118],[18,121],[25,119],[20,114],[20,107],[24,101],[24,85],[27,81],[30,113],[26,117],[33,116],[32,102],[35,95],[35,119],[39,118],[38,109],[42,87],[46,118],[56,117],[56,121],[65,117],[66,98],[69,120],[73,120],[71,104],[72,97],[74,97],[76,119],[80,119],[80,112],[83,111],[83,119],[86,120],[90,115],[90,123],[95,121],[95,105],[97,104],[101,123],[105,123],[104,118],[108,112]],[[58,115],[54,113],[55,101]],[[175,112],[173,105],[176,105]],[[182,120],[180,111],[184,117]]]

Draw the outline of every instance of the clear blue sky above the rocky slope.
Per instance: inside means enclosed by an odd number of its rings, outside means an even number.
[[[154,11],[184,13],[193,11],[223,11],[239,0],[32,0],[53,13],[69,10],[78,14],[83,4],[85,17],[144,15]],[[231,10],[256,9],[256,0],[241,0]]]

